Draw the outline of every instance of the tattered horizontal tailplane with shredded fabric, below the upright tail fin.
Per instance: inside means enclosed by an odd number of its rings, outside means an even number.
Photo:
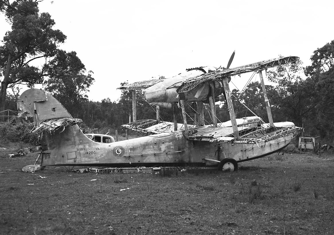
[[[57,119],[50,119],[44,122],[41,122],[38,128],[32,131],[32,133],[35,132],[42,132],[46,130],[50,135],[54,134],[54,131],[59,129],[65,129],[67,126],[73,126],[75,124],[81,123],[81,119],[72,118],[72,117],[61,117]],[[63,131],[62,130],[62,131]],[[61,132],[62,132],[61,131]]]

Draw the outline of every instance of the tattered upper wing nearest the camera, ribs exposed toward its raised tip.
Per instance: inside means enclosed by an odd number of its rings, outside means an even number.
[[[283,58],[264,60],[264,61],[260,61],[257,63],[239,66],[236,68],[218,69],[217,71],[201,74],[196,77],[192,77],[192,78],[188,78],[184,80],[181,83],[180,87],[178,88],[177,92],[189,91],[205,81],[216,80],[222,77],[233,76],[233,75],[237,75],[241,73],[247,73],[247,72],[262,70],[266,68],[272,68],[272,67],[276,67],[282,64],[295,63],[298,60],[299,60],[299,57],[297,56],[288,56],[288,57],[283,57]]]

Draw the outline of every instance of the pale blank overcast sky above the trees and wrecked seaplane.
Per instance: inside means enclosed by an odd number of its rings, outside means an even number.
[[[233,50],[231,67],[279,55],[310,65],[313,51],[334,40],[333,1],[44,0],[39,9],[67,36],[60,48],[94,72],[93,101],[117,100],[123,81],[226,67]],[[9,29],[1,15],[0,37]]]

